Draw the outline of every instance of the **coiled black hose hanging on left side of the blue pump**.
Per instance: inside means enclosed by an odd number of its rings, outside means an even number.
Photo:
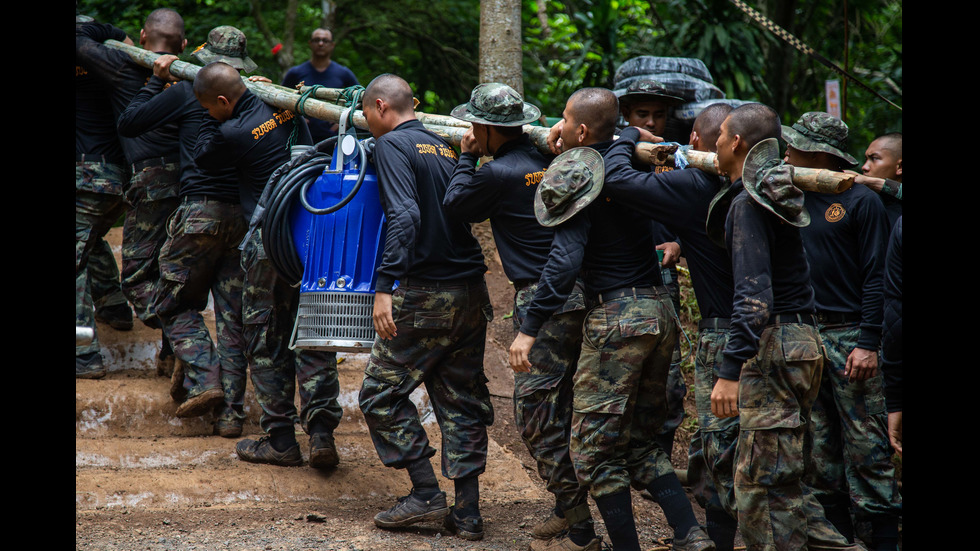
[[[259,200],[265,254],[279,276],[294,286],[303,279],[303,260],[293,243],[290,209],[304,184],[315,181],[330,166],[336,141],[336,136],[327,138],[276,169]]]

